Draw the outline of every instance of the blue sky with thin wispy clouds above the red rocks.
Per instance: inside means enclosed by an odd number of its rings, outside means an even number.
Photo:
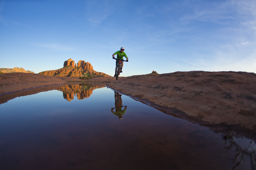
[[[0,67],[35,73],[72,58],[123,76],[175,71],[256,73],[256,1],[0,0]]]

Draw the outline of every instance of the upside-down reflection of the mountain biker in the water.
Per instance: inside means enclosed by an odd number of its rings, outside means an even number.
[[[111,108],[111,112],[118,116],[119,120],[123,119],[123,114],[125,113],[127,106],[123,106],[123,101],[121,98],[122,95],[120,95],[118,92],[115,92],[115,106],[116,112],[114,112],[114,108]],[[122,107],[124,107],[124,110],[122,111]]]

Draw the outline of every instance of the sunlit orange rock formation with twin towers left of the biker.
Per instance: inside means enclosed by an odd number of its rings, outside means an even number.
[[[43,71],[38,74],[42,75],[50,75],[50,76],[57,76],[57,77],[86,77],[90,75],[92,77],[110,77],[110,75],[97,72],[93,70],[93,66],[89,62],[85,62],[83,60],[78,61],[75,63],[74,60],[69,58],[69,60],[65,61],[63,67],[58,70],[49,70]]]

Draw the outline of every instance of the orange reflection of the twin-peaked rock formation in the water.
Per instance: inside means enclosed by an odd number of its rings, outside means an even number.
[[[103,88],[100,86],[92,86],[90,84],[66,84],[57,90],[63,92],[63,98],[68,101],[77,97],[78,100],[88,98],[92,95],[92,91],[95,89]]]

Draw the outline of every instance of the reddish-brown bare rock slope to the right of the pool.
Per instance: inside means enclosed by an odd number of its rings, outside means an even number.
[[[210,124],[226,123],[256,131],[255,84],[254,73],[191,71],[134,75],[107,86]]]

